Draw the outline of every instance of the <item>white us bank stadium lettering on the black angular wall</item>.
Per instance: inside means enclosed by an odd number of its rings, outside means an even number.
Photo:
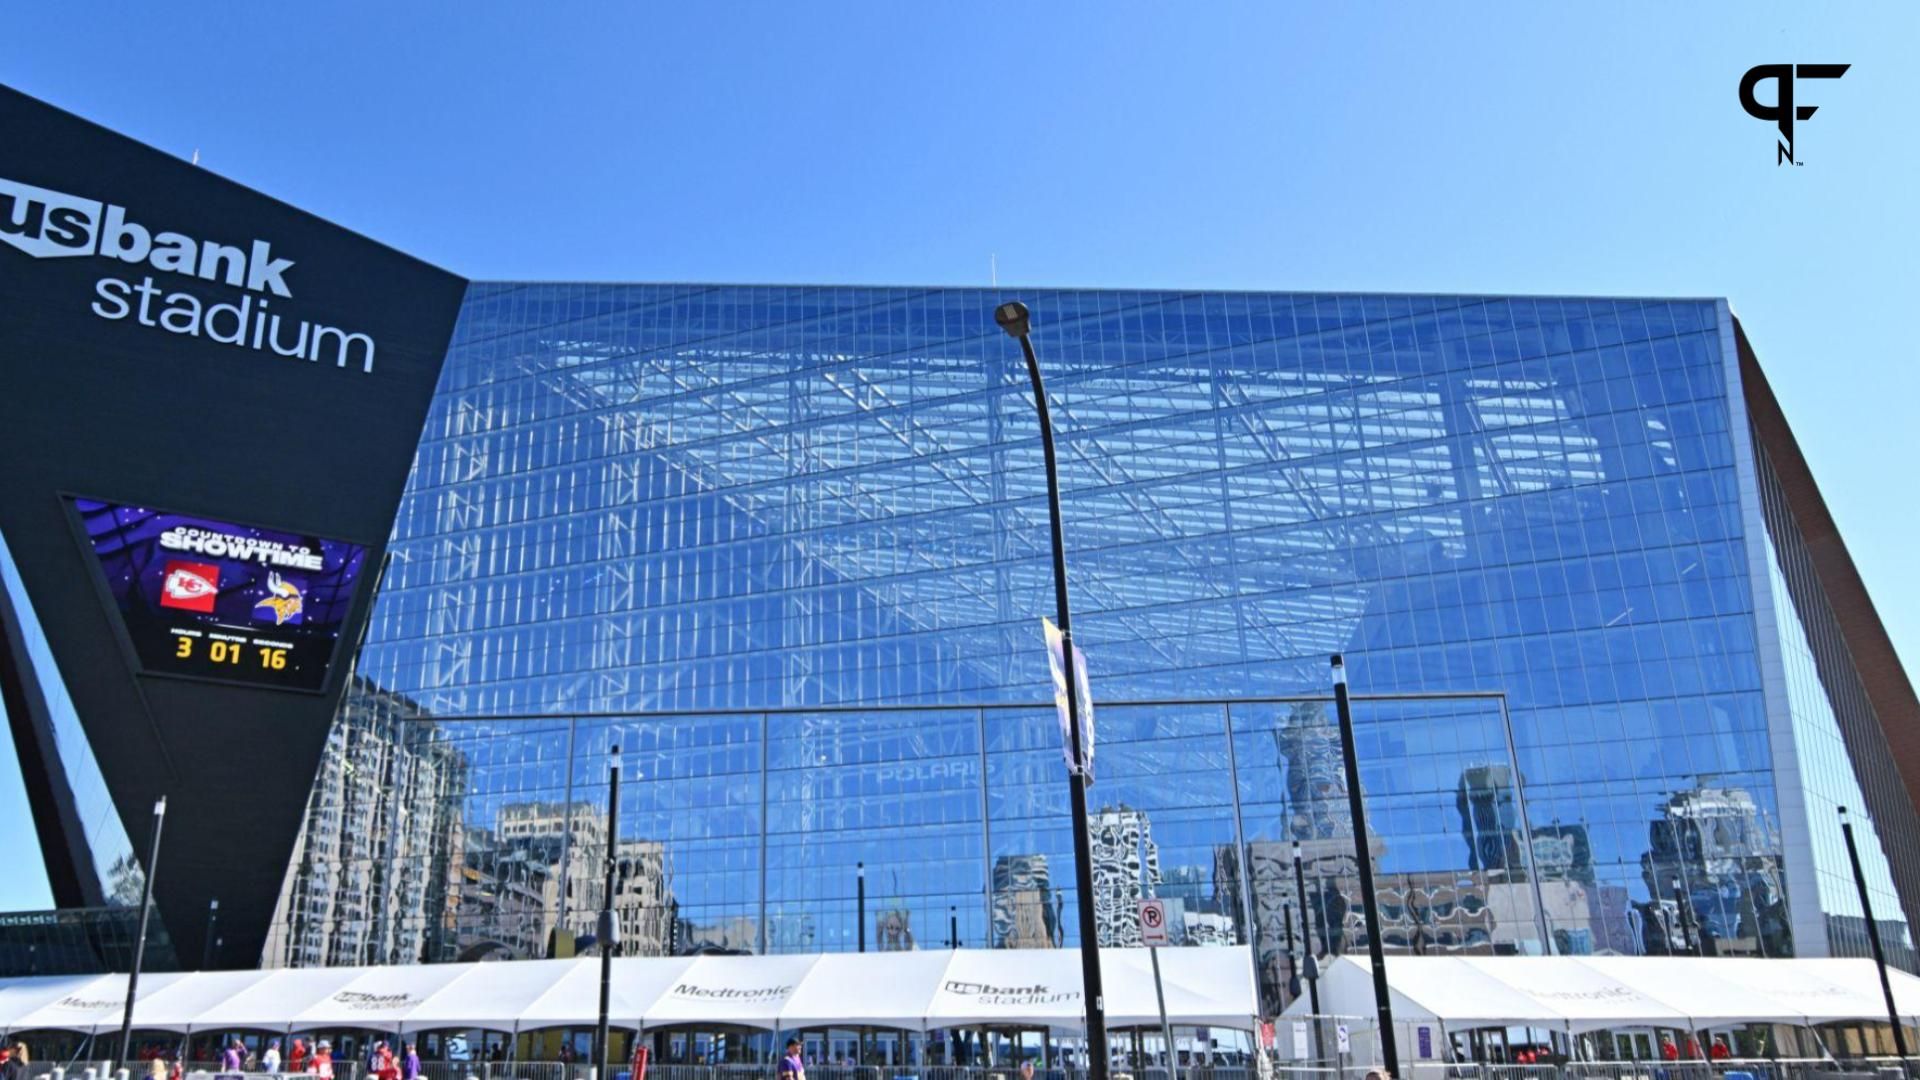
[[[0,242],[36,259],[98,258],[115,265],[94,282],[88,309],[109,323],[372,375],[371,334],[311,323],[273,307],[294,300],[271,240],[221,242],[134,221],[119,204],[0,177]],[[127,267],[127,269],[121,269]],[[154,271],[154,273],[146,273]],[[159,277],[156,273],[173,275]],[[225,286],[225,302],[169,288],[175,279]]]

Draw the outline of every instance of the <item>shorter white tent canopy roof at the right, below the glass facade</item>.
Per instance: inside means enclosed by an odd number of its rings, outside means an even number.
[[[1920,978],[1889,970],[1903,1019],[1920,1017]],[[1394,1020],[1455,1028],[1701,1028],[1885,1020],[1864,959],[1388,957]],[[1321,976],[1321,1013],[1373,1015],[1373,967],[1340,957]],[[1309,1013],[1294,1001],[1288,1017]]]

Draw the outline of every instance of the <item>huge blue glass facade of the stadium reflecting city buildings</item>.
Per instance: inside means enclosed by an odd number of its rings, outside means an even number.
[[[543,955],[591,928],[609,842],[630,951],[852,949],[862,917],[927,947],[950,909],[966,944],[1077,944],[1006,298],[474,284],[338,721],[397,753],[338,740],[303,842],[371,894],[315,901],[344,886],[298,865],[269,963]],[[1020,298],[1102,940],[1144,880],[1269,992],[1302,899],[1319,951],[1363,944],[1311,700],[1340,651],[1390,947],[1859,953],[1839,803],[1907,947],[1912,688],[1849,659],[1885,634],[1724,302]],[[1444,692],[1505,709],[1365,700]],[[405,778],[371,832],[323,796],[348,769]]]

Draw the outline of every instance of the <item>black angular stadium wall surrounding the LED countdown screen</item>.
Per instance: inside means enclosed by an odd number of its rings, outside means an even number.
[[[0,88],[0,530],[182,957],[259,955],[465,288]],[[363,548],[319,694],[136,675],[75,500]]]

